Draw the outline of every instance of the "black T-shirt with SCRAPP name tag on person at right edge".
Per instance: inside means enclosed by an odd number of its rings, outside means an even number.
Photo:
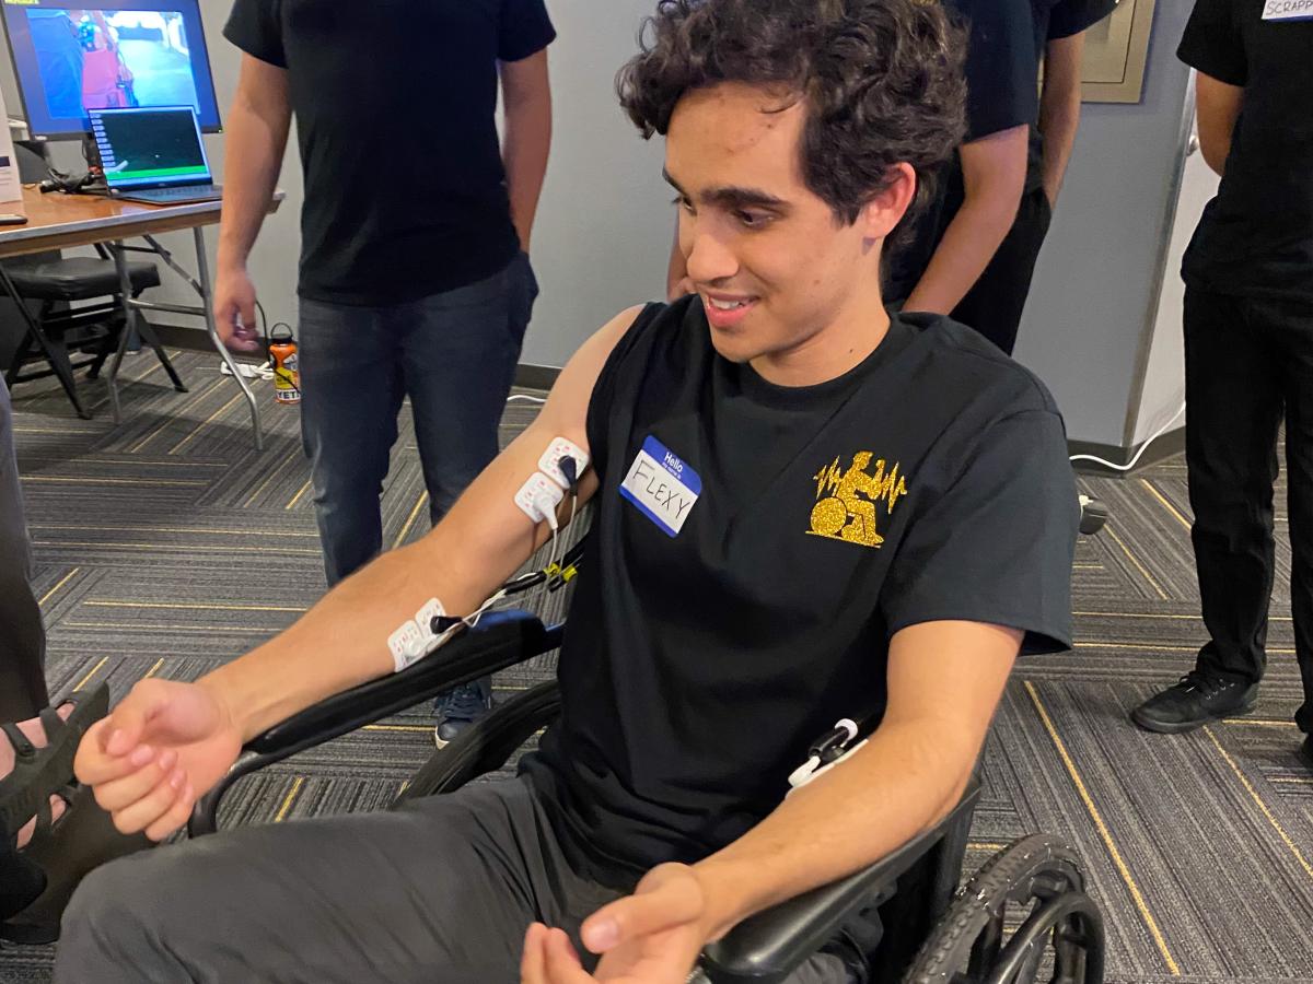
[[[1296,7],[1199,0],[1180,41],[1183,62],[1245,89],[1226,174],[1184,260],[1187,281],[1221,294],[1313,297],[1313,21],[1264,20]]]

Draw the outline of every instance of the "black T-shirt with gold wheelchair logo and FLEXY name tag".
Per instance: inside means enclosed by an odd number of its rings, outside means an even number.
[[[696,298],[654,304],[597,380],[588,440],[563,718],[524,769],[599,865],[741,837],[836,720],[878,723],[907,626],[1069,644],[1062,420],[969,328],[895,319],[852,371],[784,388],[714,352]]]

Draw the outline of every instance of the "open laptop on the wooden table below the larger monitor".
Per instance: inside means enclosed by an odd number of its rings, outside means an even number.
[[[223,198],[210,173],[194,108],[89,109],[87,114],[110,197],[151,205]]]

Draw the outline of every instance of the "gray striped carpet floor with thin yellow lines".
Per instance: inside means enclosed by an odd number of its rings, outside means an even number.
[[[125,365],[118,426],[98,383],[83,383],[92,421],[49,386],[14,394],[53,691],[108,681],[118,698],[143,677],[196,678],[324,589],[297,411],[260,387],[268,438],[257,453],[218,359],[180,353],[177,365],[189,394],[173,392],[150,354]],[[532,413],[511,404],[503,437]],[[1127,714],[1204,642],[1184,466],[1082,484],[1113,518],[1078,548],[1078,644],[1015,673],[986,750],[968,869],[1024,833],[1069,840],[1107,920],[1109,981],[1313,981],[1313,774],[1291,724],[1300,690],[1285,537],[1279,529],[1255,714],[1146,735]],[[428,529],[408,413],[382,509],[387,544]],[[553,660],[502,674],[498,690],[545,678]],[[223,820],[382,808],[429,756],[431,728],[418,708],[298,756],[239,787]],[[49,949],[7,949],[0,980],[46,981],[50,962]]]

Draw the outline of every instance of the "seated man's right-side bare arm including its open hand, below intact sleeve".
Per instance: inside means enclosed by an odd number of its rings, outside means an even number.
[[[692,867],[656,867],[634,895],[591,916],[583,941],[607,954],[597,977],[583,972],[559,930],[530,928],[523,984],[588,984],[620,972],[632,974],[625,980],[683,979],[708,941],[932,827],[970,781],[1020,643],[1016,630],[974,622],[898,632],[888,710],[861,750],[723,850]]]

